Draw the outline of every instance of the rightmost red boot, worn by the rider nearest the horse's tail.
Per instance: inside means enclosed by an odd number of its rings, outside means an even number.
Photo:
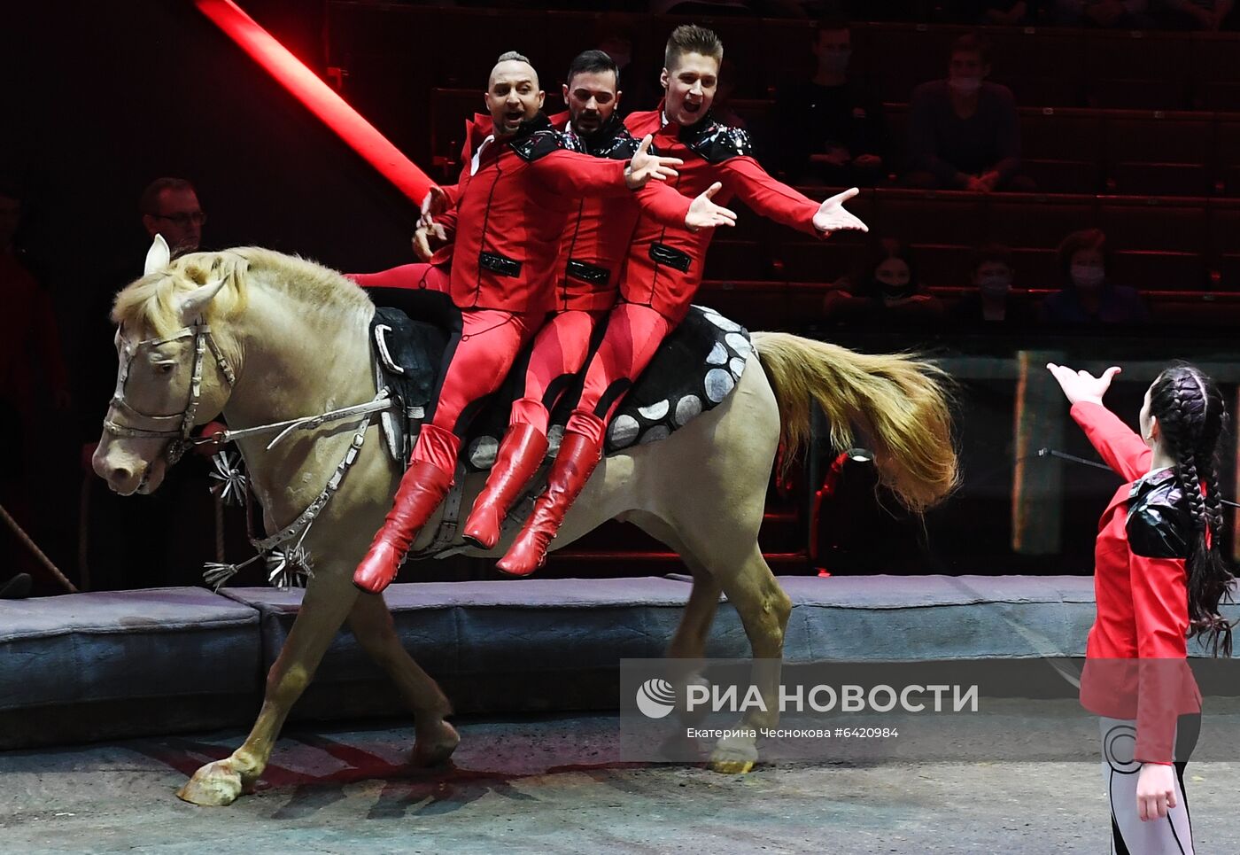
[[[601,431],[595,436],[575,431],[564,432],[556,462],[547,473],[547,490],[538,496],[521,534],[496,563],[500,570],[511,576],[529,576],[542,567],[547,561],[547,545],[559,531],[564,515],[580,495],[585,481],[590,480],[590,473],[600,459],[603,459]]]

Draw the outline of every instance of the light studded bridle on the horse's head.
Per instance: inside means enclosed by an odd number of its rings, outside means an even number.
[[[237,382],[237,375],[219,350],[219,345],[211,334],[211,328],[201,320],[191,326],[182,326],[171,335],[143,339],[133,344],[125,340],[124,328],[118,329],[117,334],[122,341],[119,354],[120,371],[117,375],[117,390],[112,395],[108,414],[103,419],[103,429],[114,437],[170,439],[167,447],[164,449],[164,455],[167,458],[167,465],[171,467],[181,459],[190,445],[195,444],[195,441],[190,438],[190,433],[193,431],[193,419],[198,411],[198,401],[202,397],[202,359],[207,347],[211,349],[211,355],[216,357],[219,374],[229,387]],[[170,341],[179,341],[191,336],[193,338],[193,374],[190,377],[190,400],[185,410],[171,416],[151,416],[130,406],[125,401],[125,381],[129,380],[129,369],[138,354],[144,347],[157,347]],[[125,421],[119,421],[118,416],[123,416]],[[135,421],[138,424],[134,423]],[[207,438],[203,442],[211,442],[211,439]]]

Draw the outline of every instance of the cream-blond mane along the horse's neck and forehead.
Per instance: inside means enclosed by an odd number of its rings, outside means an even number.
[[[236,247],[188,253],[134,280],[117,294],[112,321],[145,326],[156,336],[170,335],[182,326],[177,313],[181,295],[221,278],[224,287],[205,313],[208,324],[246,309],[252,279],[260,279],[316,314],[339,319],[372,309],[366,293],[331,268],[262,247]]]

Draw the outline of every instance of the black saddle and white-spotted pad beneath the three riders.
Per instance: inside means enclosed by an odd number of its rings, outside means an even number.
[[[408,465],[418,429],[433,412],[444,351],[451,336],[460,334],[460,310],[438,292],[370,288],[367,293],[376,304],[371,320],[376,382],[379,388],[387,386],[397,401],[396,407],[382,413],[383,436],[393,459]],[[591,352],[604,331],[604,325],[595,330]],[[485,472],[495,463],[531,346],[474,418],[461,450],[466,470]],[[719,406],[735,388],[751,350],[749,333],[742,325],[713,309],[692,307],[620,405],[608,428],[604,453],[666,439]],[[574,380],[551,414],[548,458],[559,448],[580,383],[580,377]]]

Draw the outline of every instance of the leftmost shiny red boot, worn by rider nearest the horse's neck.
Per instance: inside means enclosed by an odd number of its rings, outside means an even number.
[[[418,437],[419,447],[424,439],[430,438],[428,432],[434,434],[436,444],[455,449],[460,443],[453,433],[435,424],[423,424]],[[409,468],[401,478],[401,486],[383,527],[374,535],[366,557],[353,571],[353,584],[368,593],[379,593],[392,584],[418,530],[427,524],[451,488],[454,470],[454,465],[445,469],[441,464],[419,459],[418,452],[414,452]]]

